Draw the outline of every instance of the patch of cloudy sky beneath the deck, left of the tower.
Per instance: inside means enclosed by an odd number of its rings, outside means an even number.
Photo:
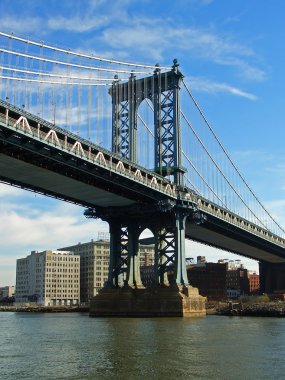
[[[5,187],[13,189],[12,195]],[[86,219],[83,211],[82,207],[0,185],[0,286],[15,283],[16,259],[32,250],[90,241],[98,232],[108,231],[107,223]]]

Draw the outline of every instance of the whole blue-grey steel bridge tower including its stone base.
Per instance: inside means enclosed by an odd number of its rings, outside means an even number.
[[[110,227],[110,268],[106,288],[91,303],[91,315],[197,315],[204,314],[204,298],[188,284],[185,259],[185,225],[195,210],[180,201],[183,191],[180,132],[180,82],[177,60],[172,70],[120,83],[110,89],[112,97],[112,150],[124,159],[137,161],[138,107],[148,100],[154,110],[154,171],[175,185],[176,201],[98,208],[89,216]],[[87,215],[88,216],[88,215]],[[144,229],[154,235],[155,265],[152,289],[140,278],[139,237]],[[167,273],[173,270],[169,284]],[[114,291],[115,290],[115,291]],[[167,306],[168,304],[168,306]],[[114,306],[116,305],[116,306]]]

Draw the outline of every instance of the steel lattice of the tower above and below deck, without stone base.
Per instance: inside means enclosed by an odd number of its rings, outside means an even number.
[[[155,172],[162,176],[172,177],[178,186],[183,184],[184,173],[181,166],[179,101],[182,78],[177,60],[174,60],[172,70],[169,72],[161,73],[160,68],[157,67],[154,74],[146,78],[136,80],[135,76],[131,75],[129,81],[125,83],[120,83],[118,78],[115,78],[109,92],[112,96],[113,110],[113,151],[131,161],[137,161],[138,107],[143,100],[151,101],[154,109]],[[111,236],[113,236],[111,239],[114,242],[111,244],[109,286],[118,286],[122,283],[121,275],[124,276],[123,282],[128,285],[141,284],[137,253],[139,235],[144,228],[150,228],[155,238],[154,283],[168,284],[169,265],[174,268],[175,281],[178,284],[188,283],[184,231],[187,213],[182,215],[181,211],[174,208],[167,217],[159,217],[161,212],[163,213],[164,210],[158,211],[158,222],[151,223],[144,214],[137,215],[136,228],[134,228],[134,219],[128,219],[126,214],[121,215],[121,218],[116,221],[107,218]],[[124,214],[123,210],[121,214]],[[106,219],[102,210],[100,216]],[[124,225],[122,225],[122,220],[125,221]]]

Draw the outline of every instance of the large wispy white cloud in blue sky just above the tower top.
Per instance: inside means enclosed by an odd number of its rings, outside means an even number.
[[[112,49],[129,51],[130,56],[139,53],[149,60],[164,61],[166,54],[175,51],[235,67],[243,78],[251,81],[266,79],[262,69],[249,63],[256,59],[252,48],[215,30],[179,27],[172,25],[171,20],[133,18],[124,25],[106,27],[99,39]]]

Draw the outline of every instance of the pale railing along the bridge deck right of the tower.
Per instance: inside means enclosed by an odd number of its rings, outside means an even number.
[[[188,194],[186,194],[186,199],[189,198]],[[266,230],[255,223],[244,219],[237,214],[230,212],[224,208],[221,208],[215,203],[209,202],[209,200],[200,197],[196,194],[193,194],[191,197],[191,201],[196,204],[198,210],[204,212],[205,214],[210,214],[215,218],[223,220],[227,223],[237,226],[238,228],[250,232],[256,236],[262,237],[265,240],[268,240],[282,248],[285,248],[285,239],[282,237],[275,235],[269,230]]]

